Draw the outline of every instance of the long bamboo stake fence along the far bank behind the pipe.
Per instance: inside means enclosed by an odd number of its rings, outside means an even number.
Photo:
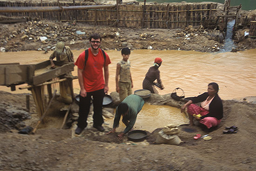
[[[80,6],[80,3],[31,3],[0,2],[0,7],[60,7]],[[129,28],[183,28],[192,26],[215,26],[216,3],[164,3],[158,5],[120,4],[103,9],[86,9],[51,12],[0,13],[5,16],[86,22],[90,25],[121,26]]]

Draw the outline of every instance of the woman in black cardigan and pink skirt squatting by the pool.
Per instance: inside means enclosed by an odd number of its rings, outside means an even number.
[[[217,126],[221,122],[223,117],[223,105],[222,99],[219,97],[218,92],[219,85],[217,83],[210,83],[208,85],[208,92],[189,98],[190,100],[182,105],[181,112],[184,112],[188,107],[189,123],[195,125],[193,121],[193,115],[200,114],[201,117],[195,116],[195,119],[200,121],[207,128]],[[195,105],[194,103],[202,102],[201,106]]]

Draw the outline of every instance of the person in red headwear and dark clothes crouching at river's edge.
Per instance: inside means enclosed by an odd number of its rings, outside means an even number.
[[[159,67],[162,64],[161,58],[155,58],[155,63],[153,66],[151,66],[148,69],[148,72],[146,73],[145,79],[143,80],[142,87],[143,89],[147,89],[152,93],[158,94],[158,91],[156,90],[155,86],[158,86],[161,90],[164,89],[162,85],[162,81],[160,79],[160,71]],[[155,79],[157,79],[157,83],[154,83]]]

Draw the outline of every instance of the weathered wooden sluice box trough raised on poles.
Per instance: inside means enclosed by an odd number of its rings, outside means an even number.
[[[54,61],[54,64],[55,69],[51,69],[50,60],[32,65],[0,64],[0,85],[11,86],[11,90],[14,91],[15,85],[38,85],[74,71],[74,63]]]

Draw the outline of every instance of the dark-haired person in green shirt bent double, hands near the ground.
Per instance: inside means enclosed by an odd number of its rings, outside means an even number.
[[[144,100],[135,94],[131,94],[127,96],[117,107],[115,111],[115,119],[113,124],[113,130],[108,132],[109,133],[115,133],[116,127],[119,125],[119,121],[122,115],[122,122],[126,125],[126,128],[123,132],[118,134],[118,138],[121,139],[124,134],[129,132],[136,121],[137,114],[141,111],[142,106],[144,105]],[[106,135],[107,135],[106,134]]]

